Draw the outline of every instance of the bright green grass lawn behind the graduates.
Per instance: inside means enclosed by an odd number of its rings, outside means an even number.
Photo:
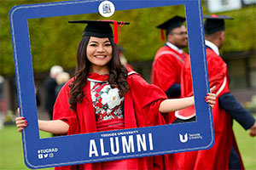
[[[251,138],[237,122],[234,122],[236,140],[247,170],[256,169],[256,138]],[[40,133],[41,138],[49,137],[48,133]],[[5,126],[0,130],[0,170],[26,170],[23,159],[21,134],[15,126]],[[53,170],[54,168],[44,168]]]

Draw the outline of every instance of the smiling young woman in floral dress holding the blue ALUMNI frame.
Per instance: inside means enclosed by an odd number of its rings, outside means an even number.
[[[55,101],[54,120],[39,120],[40,130],[71,135],[162,125],[163,114],[194,105],[193,97],[167,99],[160,88],[121,65],[109,25],[120,23],[74,22],[88,24],[77,51],[77,70]],[[213,106],[215,98],[215,94],[210,93],[206,100]],[[28,125],[24,117],[18,117],[16,124],[19,132]],[[162,156],[150,156],[55,169],[177,169],[174,156],[168,159],[165,165]]]

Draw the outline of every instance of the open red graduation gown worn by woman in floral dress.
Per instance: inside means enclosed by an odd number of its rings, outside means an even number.
[[[133,71],[134,72],[134,71]],[[159,112],[159,105],[166,99],[166,94],[160,88],[149,85],[137,73],[129,72],[127,77],[130,91],[125,94],[125,128],[148,127],[164,124],[164,119]],[[129,75],[129,74],[128,74]],[[68,85],[73,80],[67,82],[58,95],[54,107],[54,119],[67,122],[70,126],[67,135],[78,133],[96,132],[96,117],[90,97],[90,83],[84,86],[84,100],[77,105],[77,113],[68,109],[69,90]],[[90,120],[90,121],[88,121]],[[148,156],[133,158],[136,169],[177,169],[177,161],[173,155]],[[165,160],[165,164],[164,161]],[[102,169],[101,162],[73,165],[66,167],[55,167],[57,170],[73,169]]]

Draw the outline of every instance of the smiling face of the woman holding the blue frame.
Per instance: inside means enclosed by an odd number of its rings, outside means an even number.
[[[108,74],[108,62],[113,57],[113,48],[108,37],[90,37],[86,55],[91,64],[90,72]]]

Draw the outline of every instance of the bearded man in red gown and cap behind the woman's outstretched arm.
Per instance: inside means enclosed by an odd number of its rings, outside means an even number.
[[[181,49],[188,46],[187,29],[183,26],[185,20],[183,17],[174,16],[157,26],[161,29],[163,40],[163,31],[166,30],[166,44],[154,56],[151,82],[160,87],[169,99],[179,98],[180,96],[181,69],[184,59],[188,55]],[[166,120],[169,123],[172,123],[175,119],[174,113],[166,115]]]

